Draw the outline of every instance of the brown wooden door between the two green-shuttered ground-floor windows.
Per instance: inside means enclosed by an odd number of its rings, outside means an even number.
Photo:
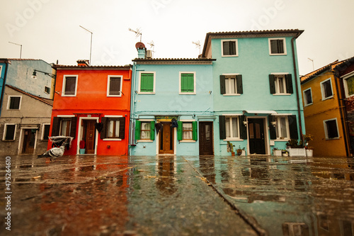
[[[173,129],[171,122],[162,122],[159,137],[159,154],[173,154]]]

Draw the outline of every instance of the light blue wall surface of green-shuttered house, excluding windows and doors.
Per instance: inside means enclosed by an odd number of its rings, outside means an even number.
[[[156,72],[155,94],[137,93],[139,72]],[[196,94],[179,94],[180,72],[195,72]],[[136,64],[135,62],[131,111],[133,123],[138,118],[154,119],[154,116],[179,116],[180,120],[195,121],[198,121],[200,116],[210,116],[214,110],[212,86],[212,64]],[[156,145],[158,142],[156,137],[153,142],[138,142],[136,147],[130,148],[130,153],[136,155],[157,154]],[[198,140],[188,143],[176,140],[175,153],[177,155],[198,155]]]

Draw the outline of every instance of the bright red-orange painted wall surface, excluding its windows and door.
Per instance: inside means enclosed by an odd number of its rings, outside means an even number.
[[[52,109],[53,117],[60,115],[75,115],[77,117],[76,135],[72,141],[72,147],[66,150],[64,154],[76,154],[78,145],[79,118],[91,116],[101,117],[105,115],[125,117],[125,139],[120,141],[101,140],[98,134],[98,145],[96,153],[99,155],[125,155],[128,154],[128,137],[130,121],[130,87],[131,87],[131,69],[62,69],[57,68],[57,82],[55,85],[55,98]],[[62,85],[64,75],[77,75],[76,96],[62,96]],[[108,97],[108,75],[121,75],[122,96]],[[50,130],[50,136],[52,129]],[[110,146],[108,148],[107,146]],[[52,144],[48,144],[48,149]]]

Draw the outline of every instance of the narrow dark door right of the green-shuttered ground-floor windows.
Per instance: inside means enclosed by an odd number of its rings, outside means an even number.
[[[199,123],[199,154],[212,155],[214,145],[212,145],[212,122]]]

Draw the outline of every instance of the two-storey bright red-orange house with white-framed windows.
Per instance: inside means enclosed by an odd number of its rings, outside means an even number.
[[[64,154],[127,154],[132,70],[127,66],[77,66],[57,69],[50,136],[71,136]],[[82,144],[82,142],[81,142]],[[51,143],[48,144],[48,148]]]

